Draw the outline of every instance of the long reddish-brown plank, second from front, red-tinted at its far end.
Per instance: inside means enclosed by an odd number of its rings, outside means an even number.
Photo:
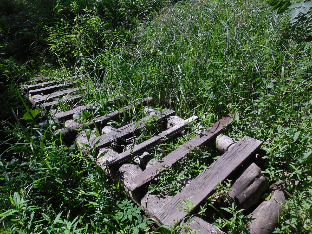
[[[181,145],[178,149],[165,156],[162,160],[159,160],[153,166],[144,170],[142,173],[140,173],[132,181],[129,182],[130,191],[134,191],[135,189],[144,186],[146,183],[149,183],[151,179],[154,179],[156,176],[158,176],[159,171],[163,170],[166,165],[172,165],[176,163],[179,159],[183,158],[186,154],[188,154],[197,146],[201,146],[207,143],[217,134],[219,134],[223,130],[223,127],[231,124],[232,122],[233,119],[232,117],[230,117],[230,115],[224,117],[223,119],[220,119],[217,123],[213,124],[211,128],[206,129],[205,134],[196,135],[188,142]]]

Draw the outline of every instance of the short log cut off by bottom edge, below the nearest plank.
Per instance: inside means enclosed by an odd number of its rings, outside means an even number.
[[[217,226],[210,224],[206,221],[204,221],[203,219],[201,219],[200,217],[197,216],[193,216],[190,219],[191,223],[190,223],[190,229],[187,231],[199,231],[196,232],[198,234],[223,234],[223,232],[221,231],[220,228],[218,228]],[[188,226],[189,222],[187,221],[184,226]],[[185,234],[185,230],[182,229],[181,234]]]

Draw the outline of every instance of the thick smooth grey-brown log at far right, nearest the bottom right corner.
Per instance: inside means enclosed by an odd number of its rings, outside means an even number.
[[[280,216],[281,205],[285,204],[289,193],[285,188],[285,184],[281,181],[274,184],[272,193],[269,201],[263,201],[251,212],[251,225],[249,227],[251,234],[269,234],[273,232]]]

